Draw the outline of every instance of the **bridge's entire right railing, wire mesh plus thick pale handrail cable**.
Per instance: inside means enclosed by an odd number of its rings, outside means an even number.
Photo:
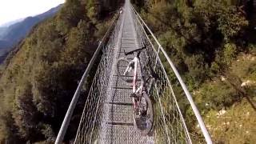
[[[202,134],[207,143],[211,143],[210,135],[202,118],[198,113],[190,93],[186,89],[182,78],[178,74],[174,64],[154,37],[146,23],[133,10],[133,18],[138,34],[138,41],[146,44],[146,59],[142,62],[154,67],[158,74],[158,81],[152,83],[150,94],[154,97],[154,137],[157,143],[192,143],[190,133],[186,127],[186,121],[182,114],[185,114],[186,106],[191,106],[194,116],[197,118]],[[145,63],[145,65],[146,65]],[[182,110],[181,110],[182,109]]]

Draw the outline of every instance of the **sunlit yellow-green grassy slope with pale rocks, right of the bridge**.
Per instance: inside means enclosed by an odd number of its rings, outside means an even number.
[[[256,54],[251,51],[250,54],[239,54],[235,59],[229,73],[238,75],[242,82],[250,81],[246,86],[246,94],[248,94],[256,106]],[[203,86],[210,86],[207,95],[220,95],[219,97],[230,98],[233,93],[226,94],[226,90],[234,91],[234,88],[226,89],[226,80],[215,79],[214,81],[206,82]],[[256,142],[256,111],[246,100],[246,98],[236,98],[231,106],[218,106],[212,108],[210,106],[210,99],[204,99],[202,95],[205,93],[205,87],[199,89],[194,98],[198,105],[201,106],[201,112],[206,122],[206,127],[214,142],[219,143],[254,143]],[[209,92],[209,90],[212,90]],[[226,95],[224,95],[226,94]],[[223,97],[222,97],[223,95]],[[215,95],[214,95],[215,96]],[[216,100],[218,96],[213,98]],[[207,101],[209,100],[209,101]],[[225,111],[225,114],[220,114]]]

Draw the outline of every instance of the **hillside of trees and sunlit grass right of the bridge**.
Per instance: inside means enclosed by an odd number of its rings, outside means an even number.
[[[132,2],[182,74],[214,142],[254,143],[256,8],[253,1]],[[182,107],[186,107],[182,110],[196,142],[202,138],[198,123],[191,116],[190,106]]]

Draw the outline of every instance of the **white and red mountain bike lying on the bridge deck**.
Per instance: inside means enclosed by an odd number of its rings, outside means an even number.
[[[134,126],[142,135],[149,134],[154,125],[153,105],[146,90],[146,84],[154,78],[152,76],[153,69],[150,69],[150,78],[146,79],[140,61],[140,54],[144,49],[146,49],[145,45],[142,48],[132,50],[128,53],[124,50],[126,56],[134,53],[137,54],[130,62],[127,58],[119,58],[117,62],[118,77],[128,85],[132,83],[133,93],[130,97],[133,100],[134,106]],[[141,81],[138,80],[138,64],[141,72]]]

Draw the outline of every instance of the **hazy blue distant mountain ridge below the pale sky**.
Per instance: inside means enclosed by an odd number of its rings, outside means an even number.
[[[56,6],[45,13],[38,14],[34,17],[27,17],[22,22],[14,23],[8,27],[0,27],[0,57],[6,52],[10,51],[11,48],[18,44],[22,38],[26,37],[26,34],[30,32],[33,26],[42,22],[46,18],[53,17],[54,14],[60,10],[62,4]],[[2,61],[0,60],[0,63]]]

